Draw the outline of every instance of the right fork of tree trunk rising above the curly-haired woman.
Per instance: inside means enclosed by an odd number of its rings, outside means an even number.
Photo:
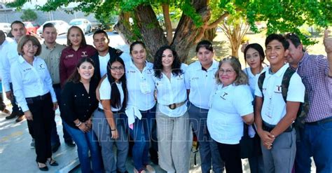
[[[211,17],[210,11],[207,8],[207,0],[193,1],[193,7],[196,12],[202,16],[204,25]],[[196,27],[193,20],[187,15],[182,14],[181,20],[177,29],[175,30],[172,47],[177,50],[181,62],[186,62],[189,50],[193,43],[195,44],[195,38],[200,33],[200,28]]]

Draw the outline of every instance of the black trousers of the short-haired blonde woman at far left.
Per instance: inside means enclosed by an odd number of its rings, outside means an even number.
[[[52,156],[50,133],[52,130],[52,120],[55,117],[53,102],[48,92],[46,95],[26,98],[29,110],[34,120],[28,120],[34,131],[36,146],[36,161],[46,162]]]

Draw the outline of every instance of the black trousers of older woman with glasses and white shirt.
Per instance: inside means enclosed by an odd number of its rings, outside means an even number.
[[[240,144],[221,144],[217,142],[221,159],[225,162],[227,173],[242,173]]]

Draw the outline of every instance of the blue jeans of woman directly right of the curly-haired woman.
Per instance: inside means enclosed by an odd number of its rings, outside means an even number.
[[[193,131],[198,137],[202,173],[210,172],[211,165],[214,172],[223,172],[223,160],[218,152],[218,144],[212,140],[207,130],[207,109],[200,109],[189,104],[189,117]]]

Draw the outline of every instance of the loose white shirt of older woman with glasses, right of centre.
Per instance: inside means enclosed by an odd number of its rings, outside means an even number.
[[[239,144],[243,136],[242,116],[254,112],[249,85],[217,85],[210,97],[207,128],[215,141]]]

